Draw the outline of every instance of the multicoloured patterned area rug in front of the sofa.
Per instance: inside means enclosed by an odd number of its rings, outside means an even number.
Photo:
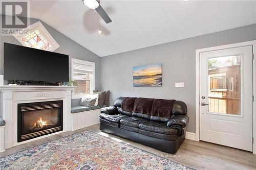
[[[84,131],[0,158],[0,169],[192,169]]]

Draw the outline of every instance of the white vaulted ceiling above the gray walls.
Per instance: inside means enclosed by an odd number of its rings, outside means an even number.
[[[256,23],[256,1],[100,3],[113,22],[106,24],[81,0],[31,1],[30,15],[100,57]]]

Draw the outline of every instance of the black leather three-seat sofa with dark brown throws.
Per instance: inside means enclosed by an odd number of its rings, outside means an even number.
[[[185,139],[186,114],[181,101],[120,97],[101,109],[100,130],[174,154]]]

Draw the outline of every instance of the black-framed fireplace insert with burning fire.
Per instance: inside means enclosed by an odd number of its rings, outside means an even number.
[[[62,131],[63,101],[18,104],[18,142]]]

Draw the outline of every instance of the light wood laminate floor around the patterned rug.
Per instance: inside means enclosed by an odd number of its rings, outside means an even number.
[[[0,153],[0,157],[16,153],[18,151],[22,151],[36,145],[59,139],[61,137],[68,136],[84,130],[99,133],[99,124],[76,131],[63,132],[57,135],[46,137],[44,139],[39,139],[22,145],[18,145],[16,147],[6,150],[6,152]],[[175,155],[170,155],[114,135],[110,135],[110,137],[115,137],[125,143],[130,143],[130,145],[133,145],[139,149],[152,152],[159,156],[165,157],[167,159],[176,161],[184,165],[188,165],[196,169],[256,169],[256,155],[253,155],[250,152],[224,147],[218,144],[185,139],[179,151]]]

